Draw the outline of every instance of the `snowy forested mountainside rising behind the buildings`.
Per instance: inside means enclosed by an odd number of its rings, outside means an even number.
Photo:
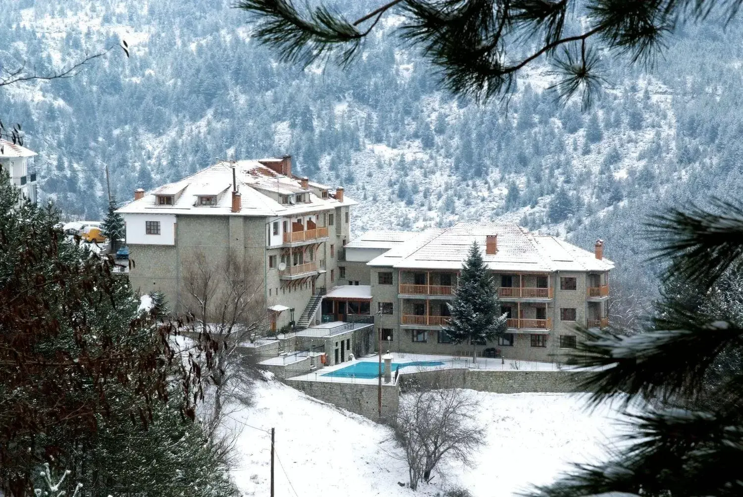
[[[337,3],[349,16],[371,5]],[[394,17],[347,71],[281,64],[230,5],[5,6],[6,67],[62,68],[120,39],[131,48],[129,59],[114,48],[72,79],[0,88],[0,118],[24,124],[42,192],[67,215],[100,216],[105,164],[123,201],[217,158],[290,153],[300,172],[362,201],[357,232],[519,221],[588,247],[606,238],[637,281],[643,215],[743,185],[735,23],[685,27],[649,72],[605,54],[610,84],[582,111],[555,102],[538,65],[503,102],[453,98],[389,36]]]

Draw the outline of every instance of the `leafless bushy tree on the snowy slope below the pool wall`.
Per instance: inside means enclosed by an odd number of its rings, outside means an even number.
[[[476,408],[476,398],[462,389],[423,386],[400,397],[393,429],[405,451],[412,490],[420,481],[430,481],[431,472],[441,462],[472,464],[471,455],[484,444]]]

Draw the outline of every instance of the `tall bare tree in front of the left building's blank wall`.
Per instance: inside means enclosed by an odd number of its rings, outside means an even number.
[[[265,334],[266,310],[262,271],[228,252],[217,262],[198,251],[184,264],[186,311],[194,318],[192,332],[207,344],[204,359],[210,366],[204,420],[210,434],[223,425],[225,406],[250,400],[253,369],[240,350]]]

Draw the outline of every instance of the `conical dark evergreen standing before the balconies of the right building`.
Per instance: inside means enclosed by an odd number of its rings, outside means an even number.
[[[477,345],[495,340],[506,331],[506,314],[500,314],[496,285],[476,241],[462,264],[454,298],[447,305],[451,320],[442,331],[455,343],[469,340],[473,362]]]

